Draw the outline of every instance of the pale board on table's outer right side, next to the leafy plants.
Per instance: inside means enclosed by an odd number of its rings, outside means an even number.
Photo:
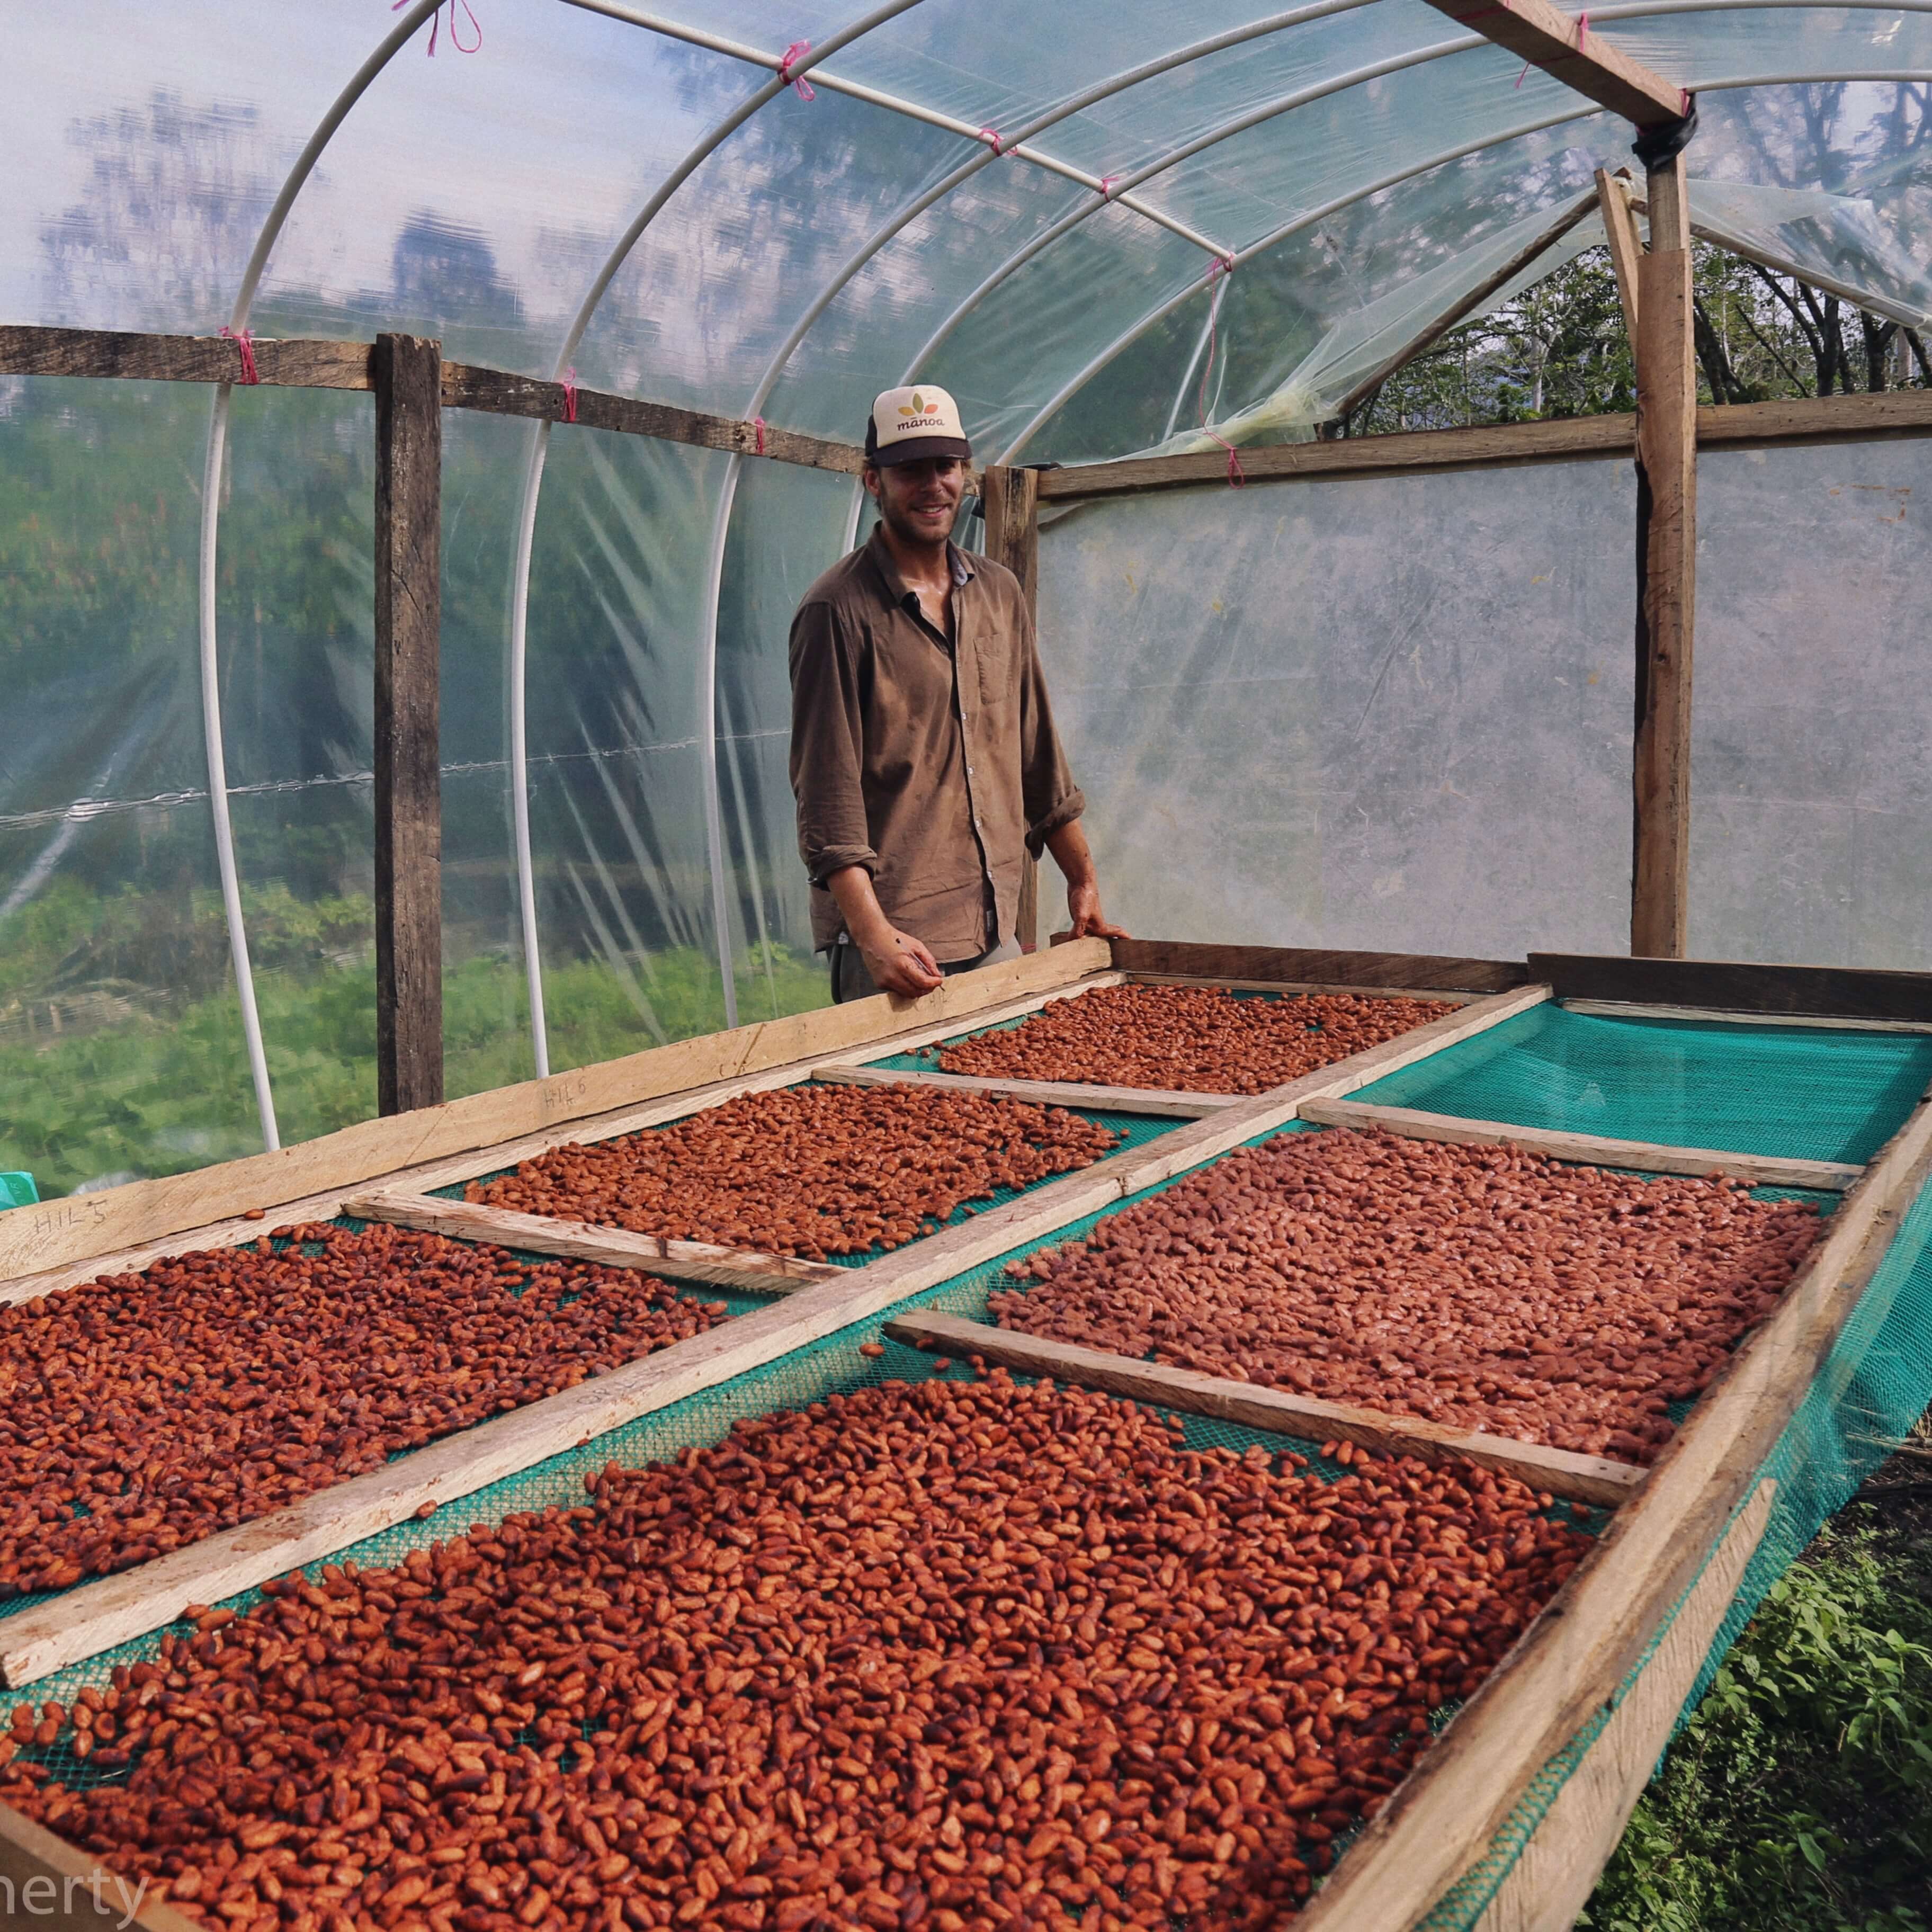
[[[1474,1932],[1571,1932],[1577,1924],[1764,1540],[1776,1493],[1776,1482],[1760,1482],[1737,1513],[1656,1656],[1544,1812]]]

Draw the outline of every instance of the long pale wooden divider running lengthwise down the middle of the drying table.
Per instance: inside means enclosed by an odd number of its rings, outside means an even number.
[[[1242,1107],[1229,1107],[1215,1119],[1196,1121],[1150,1146],[1117,1153],[1084,1173],[989,1208],[866,1267],[844,1269],[840,1281],[804,1287],[769,1308],[674,1343],[659,1354],[578,1383],[514,1414],[431,1443],[288,1509],[0,1619],[0,1683],[15,1687],[33,1683],[77,1658],[95,1656],[131,1636],[160,1629],[187,1604],[213,1604],[298,1565],[319,1561],[402,1522],[423,1503],[440,1505],[469,1495],[502,1476],[651,1414],[667,1403],[715,1387],[806,1343],[823,1341],[908,1294],[951,1281],[981,1262],[995,1260],[1126,1194],[1198,1167],[1252,1134],[1294,1119],[1298,1101],[1310,1092],[1350,1092],[1352,1086],[1376,1080],[1395,1065],[1406,1065],[1459,1037],[1497,1026],[1544,997],[1548,997],[1544,987],[1497,995],[1447,1020],[1416,1028],[1399,1041],[1383,1041],[1321,1068],[1320,1074],[1291,1080]]]

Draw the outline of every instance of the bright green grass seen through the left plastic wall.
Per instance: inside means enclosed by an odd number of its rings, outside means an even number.
[[[299,902],[270,887],[247,895],[247,922],[282,1140],[371,1119],[369,902]],[[166,960],[164,983],[185,985],[185,995],[143,987],[143,978],[162,978],[156,960]],[[823,962],[777,945],[769,974],[755,956],[740,962],[736,983],[742,1020],[804,1012],[829,997]],[[214,895],[189,895],[168,918],[153,895],[97,898],[56,885],[10,922],[0,989],[0,1003],[14,1001],[0,1037],[0,1169],[25,1169],[43,1196],[261,1150]],[[553,1070],[724,1024],[717,962],[696,949],[628,952],[622,972],[601,958],[547,962],[543,991]],[[70,1016],[58,1036],[56,1010]],[[522,962],[479,954],[446,966],[442,1034],[450,1097],[529,1080]]]

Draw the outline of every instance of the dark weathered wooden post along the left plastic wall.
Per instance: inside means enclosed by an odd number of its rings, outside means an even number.
[[[375,338],[377,1107],[442,1099],[442,346]]]

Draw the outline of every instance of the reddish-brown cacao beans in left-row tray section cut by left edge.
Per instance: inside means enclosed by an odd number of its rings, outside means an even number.
[[[628,1267],[309,1223],[0,1308],[0,1602],[66,1590],[711,1327]]]

